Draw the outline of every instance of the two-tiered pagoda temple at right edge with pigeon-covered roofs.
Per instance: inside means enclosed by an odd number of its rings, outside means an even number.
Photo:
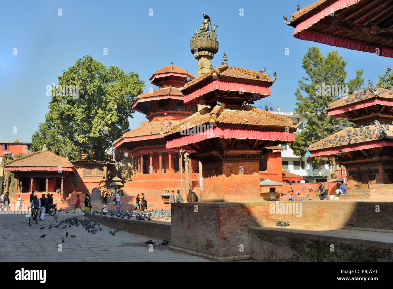
[[[310,156],[335,157],[345,166],[348,191],[393,183],[393,90],[358,91],[331,103],[328,115],[355,124],[309,146]]]

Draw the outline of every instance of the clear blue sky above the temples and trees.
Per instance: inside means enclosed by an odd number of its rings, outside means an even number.
[[[313,0],[299,0],[301,7]],[[149,83],[154,70],[173,61],[196,74],[189,39],[208,14],[216,30],[219,52],[212,63],[220,65],[225,51],[230,66],[266,73],[277,80],[272,95],[257,101],[282,111],[293,111],[294,92],[305,75],[301,59],[312,45],[323,55],[338,50],[348,62],[348,77],[363,69],[365,83],[376,83],[392,59],[375,54],[304,41],[293,37],[290,19],[298,2],[277,1],[7,1],[0,9],[0,141],[30,142],[38,124],[48,112],[46,86],[57,84],[62,70],[79,57],[92,55],[105,66],[118,66],[126,73],[138,72],[145,91],[157,87]],[[58,16],[58,9],[62,16]],[[153,9],[153,16],[149,16]],[[243,9],[244,16],[239,15]],[[17,55],[13,55],[17,48]],[[108,55],[103,49],[108,48]],[[289,48],[289,55],[285,55]],[[145,116],[134,113],[130,127],[140,125]],[[13,134],[13,127],[17,133]]]

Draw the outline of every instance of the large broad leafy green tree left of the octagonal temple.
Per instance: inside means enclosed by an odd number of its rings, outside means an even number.
[[[52,88],[49,112],[32,136],[31,149],[46,144],[70,159],[106,160],[105,151],[129,130],[131,103],[143,87],[135,72],[106,68],[88,55],[78,59]]]

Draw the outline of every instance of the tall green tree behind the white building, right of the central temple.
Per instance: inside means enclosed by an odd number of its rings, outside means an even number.
[[[299,87],[295,92],[298,102],[295,112],[307,119],[307,125],[300,132],[295,133],[296,141],[289,144],[294,155],[305,157],[310,144],[333,134],[336,127],[346,123],[343,118],[328,116],[325,109],[329,103],[355,90],[360,90],[364,85],[364,78],[361,78],[363,70],[357,70],[356,77],[346,81],[346,65],[347,62],[343,61],[342,56],[339,56],[335,50],[324,57],[317,46],[312,46],[304,55],[302,67],[307,76],[303,76],[302,80],[298,81]],[[334,158],[309,158],[307,162],[312,164],[313,168],[317,164],[329,164],[333,168],[335,177]],[[330,174],[328,179],[329,176]]]

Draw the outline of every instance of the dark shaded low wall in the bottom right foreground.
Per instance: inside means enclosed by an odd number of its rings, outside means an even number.
[[[340,230],[338,230],[340,231]],[[250,228],[251,258],[258,261],[393,261],[393,241],[351,236],[334,232],[307,232],[290,228]],[[359,231],[358,231],[359,232]],[[329,234],[330,233],[330,234]],[[365,234],[361,232],[361,235]],[[387,234],[387,233],[385,233]]]

